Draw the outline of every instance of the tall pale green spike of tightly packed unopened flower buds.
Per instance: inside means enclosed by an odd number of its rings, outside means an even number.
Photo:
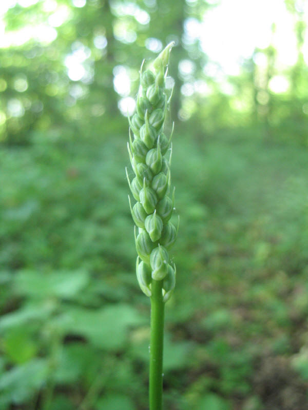
[[[151,296],[153,280],[162,280],[166,302],[176,283],[176,267],[168,249],[174,244],[177,230],[170,222],[174,210],[174,192],[170,190],[170,140],[163,132],[170,95],[167,97],[165,77],[170,43],[153,62],[152,69],[140,70],[140,88],[136,113],[128,118],[130,126],[128,152],[135,177],[127,179],[136,199],[129,206],[135,228],[136,274],[141,290]],[[133,139],[131,137],[133,134]],[[167,156],[167,157],[166,157]]]

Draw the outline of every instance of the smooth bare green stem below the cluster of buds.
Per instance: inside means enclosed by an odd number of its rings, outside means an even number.
[[[150,410],[162,410],[164,345],[164,302],[162,284],[162,280],[152,280],[149,377]]]

